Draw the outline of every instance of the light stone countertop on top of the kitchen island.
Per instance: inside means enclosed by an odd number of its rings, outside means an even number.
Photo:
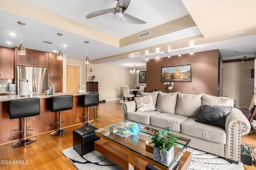
[[[73,96],[81,96],[86,93],[69,93]],[[38,95],[28,95],[28,96],[20,96],[20,95],[8,95],[8,96],[0,96],[0,102],[6,102],[10,100],[16,100],[16,99],[24,99],[24,98],[51,98],[53,96],[60,96],[60,95],[69,95],[67,93],[55,93],[54,95],[45,95],[45,94],[38,94]]]

